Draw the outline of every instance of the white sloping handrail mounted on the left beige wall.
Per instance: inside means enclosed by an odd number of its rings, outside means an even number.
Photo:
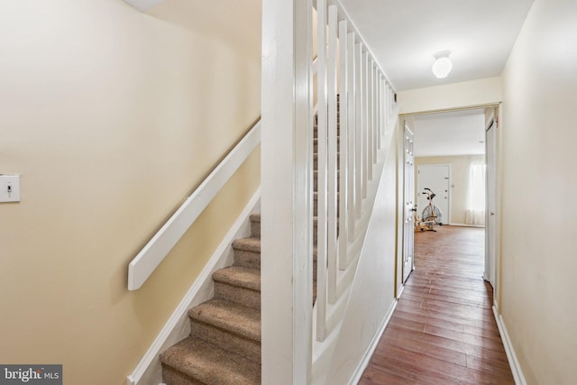
[[[154,234],[128,265],[128,289],[139,289],[160,262],[179,242],[188,228],[195,223],[206,206],[215,198],[224,184],[234,175],[252,151],[261,142],[261,121],[255,124],[238,142],[215,170],[187,198],[169,220]]]

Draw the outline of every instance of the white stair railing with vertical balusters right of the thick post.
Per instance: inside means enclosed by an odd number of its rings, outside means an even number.
[[[328,3],[316,1],[318,342],[338,324],[330,308],[346,292],[346,282],[340,284],[352,275],[344,270],[361,251],[362,215],[372,205],[369,187],[380,175],[376,164],[394,103],[394,89],[343,7]]]

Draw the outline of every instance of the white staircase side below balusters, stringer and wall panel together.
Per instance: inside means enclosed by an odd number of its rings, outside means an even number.
[[[362,373],[371,344],[375,338],[378,341],[396,304],[396,122],[394,119],[389,124],[374,166],[374,179],[369,182],[362,217],[355,224],[358,235],[349,251],[358,256],[346,270],[339,271],[339,297],[327,307],[328,336],[324,342],[313,343],[314,385],[356,383],[357,371]],[[371,277],[371,284],[367,284],[367,277]],[[380,301],[378,306],[375,299]],[[315,316],[313,322],[316,330]]]

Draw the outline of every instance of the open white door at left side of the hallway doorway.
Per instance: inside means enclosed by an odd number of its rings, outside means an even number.
[[[415,229],[413,208],[415,206],[415,163],[413,157],[413,133],[405,123],[405,184],[404,184],[404,235],[403,235],[403,283],[414,268]]]

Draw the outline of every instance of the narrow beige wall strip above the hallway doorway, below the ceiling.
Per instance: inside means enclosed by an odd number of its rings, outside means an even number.
[[[400,114],[414,114],[478,105],[494,105],[502,99],[500,78],[483,78],[444,86],[398,92]]]

